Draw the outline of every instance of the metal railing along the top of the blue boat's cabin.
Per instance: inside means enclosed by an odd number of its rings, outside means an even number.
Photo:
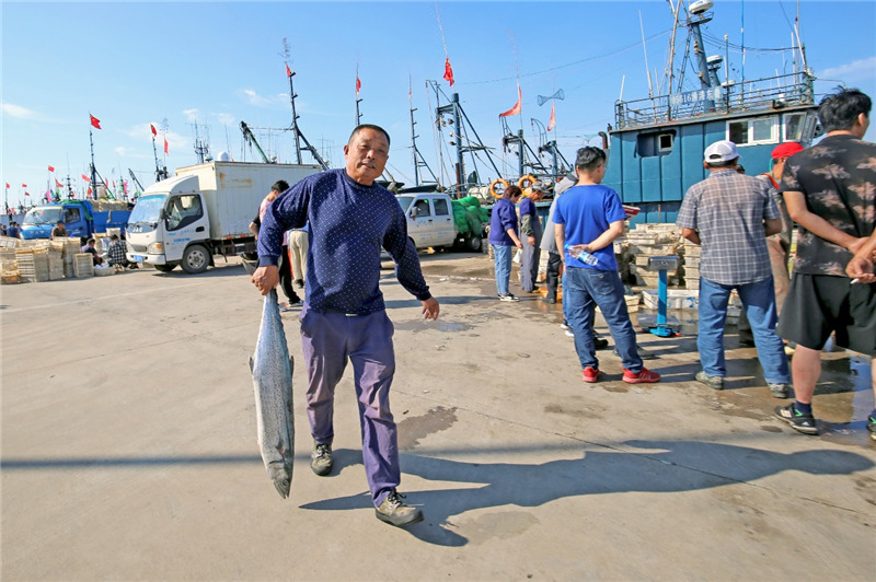
[[[615,129],[634,129],[711,116],[815,104],[815,77],[782,74],[614,104]]]

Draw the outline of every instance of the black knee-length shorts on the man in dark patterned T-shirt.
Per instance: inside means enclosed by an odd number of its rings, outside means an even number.
[[[837,346],[876,356],[876,283],[851,283],[845,277],[795,272],[776,334],[820,350],[835,331]]]

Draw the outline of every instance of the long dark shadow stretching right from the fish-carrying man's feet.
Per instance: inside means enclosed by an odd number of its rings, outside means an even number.
[[[702,441],[629,441],[626,446],[658,451],[586,451],[580,458],[540,465],[464,463],[403,454],[403,469],[434,481],[465,487],[416,491],[408,502],[422,504],[426,519],[406,531],[423,542],[458,547],[469,540],[453,531],[453,519],[471,510],[517,505],[535,508],[577,496],[623,492],[681,492],[750,482],[785,470],[848,475],[873,467],[856,453],[840,450],[776,453]],[[302,509],[339,511],[370,507],[370,496],[327,499]],[[435,527],[437,525],[438,527]]]

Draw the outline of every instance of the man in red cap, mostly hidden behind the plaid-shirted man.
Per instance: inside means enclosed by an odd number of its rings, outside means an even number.
[[[779,206],[782,214],[782,232],[766,237],[766,251],[770,253],[770,265],[773,269],[773,284],[775,286],[775,314],[782,315],[782,305],[785,303],[785,295],[791,283],[787,263],[791,259],[791,230],[794,223],[791,214],[787,213],[787,206],[782,195],[779,194],[779,184],[782,182],[782,174],[785,171],[785,162],[797,152],[803,151],[803,146],[796,141],[786,141],[773,148],[772,168],[769,172],[758,175],[759,179],[772,186],[773,200]],[[742,346],[753,346],[754,336],[751,334],[751,325],[748,323],[746,312],[739,314],[739,344]],[[789,354],[789,348],[785,348]]]

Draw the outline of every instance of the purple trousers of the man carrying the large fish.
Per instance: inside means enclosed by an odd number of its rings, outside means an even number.
[[[393,327],[385,311],[369,315],[301,310],[301,345],[308,365],[308,420],[313,440],[334,439],[335,386],[347,359],[353,363],[362,461],[374,505],[401,482],[395,421],[390,412],[390,385],[395,373]]]

